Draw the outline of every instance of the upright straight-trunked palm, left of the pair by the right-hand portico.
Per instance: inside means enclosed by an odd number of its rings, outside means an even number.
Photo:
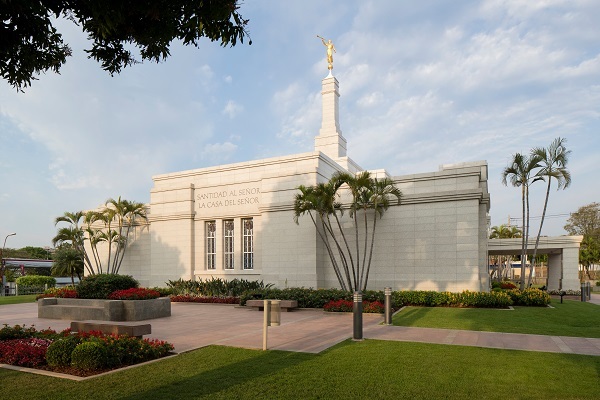
[[[530,156],[516,153],[510,165],[502,171],[502,183],[506,186],[507,180],[514,187],[521,188],[523,204],[523,236],[521,240],[521,290],[525,289],[525,264],[527,263],[527,240],[529,239],[529,187],[541,177],[532,176],[540,167],[540,158],[535,154]]]

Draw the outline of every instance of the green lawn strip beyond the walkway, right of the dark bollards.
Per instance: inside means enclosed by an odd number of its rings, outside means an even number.
[[[473,331],[600,338],[600,306],[564,300],[552,307],[484,308],[407,307],[393,324]]]

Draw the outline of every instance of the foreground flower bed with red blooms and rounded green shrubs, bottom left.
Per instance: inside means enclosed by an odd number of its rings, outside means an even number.
[[[73,334],[69,329],[57,333],[20,325],[0,329],[0,363],[77,376],[162,358],[172,351],[170,343],[126,335]]]

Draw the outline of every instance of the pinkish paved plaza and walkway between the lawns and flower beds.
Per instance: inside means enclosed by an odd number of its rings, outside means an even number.
[[[593,300],[600,305],[600,295],[593,295]],[[262,349],[263,313],[243,307],[173,303],[170,317],[148,322],[152,325],[148,337],[173,343],[176,352],[211,344]],[[380,315],[364,314],[364,338],[600,356],[600,339],[596,338],[385,326],[382,322]],[[26,303],[0,306],[2,324],[62,330],[69,327],[70,321],[38,318],[37,304]],[[281,326],[268,330],[268,347],[319,353],[351,338],[352,328],[351,314],[320,310],[284,312]]]

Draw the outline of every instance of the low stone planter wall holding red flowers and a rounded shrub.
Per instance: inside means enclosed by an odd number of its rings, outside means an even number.
[[[142,321],[171,316],[171,299],[99,300],[49,297],[38,300],[38,318],[71,321]]]

